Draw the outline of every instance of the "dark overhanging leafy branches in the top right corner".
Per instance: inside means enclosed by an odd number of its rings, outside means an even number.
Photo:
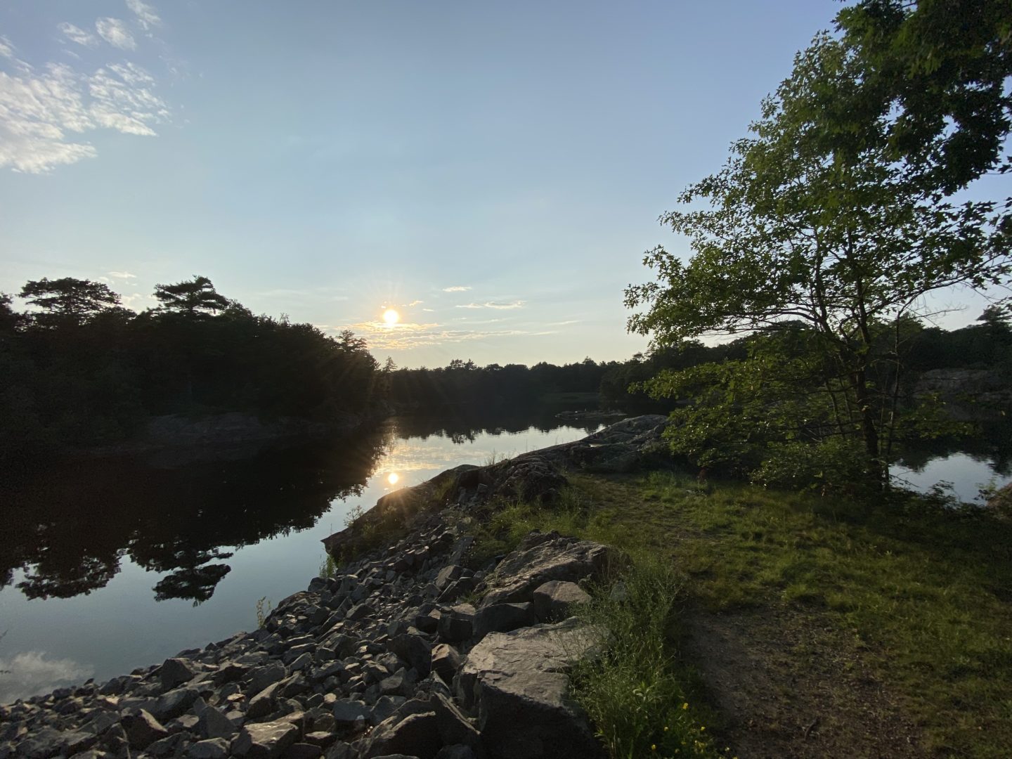
[[[840,11],[837,27],[861,82],[841,112],[887,118],[870,136],[886,140],[909,177],[952,192],[998,166],[1012,115],[1012,5],[863,0]],[[850,133],[850,145],[862,132]]]

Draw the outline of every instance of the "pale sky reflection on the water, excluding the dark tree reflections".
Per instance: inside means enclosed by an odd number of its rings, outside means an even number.
[[[394,429],[391,433],[387,452],[360,497],[335,499],[313,527],[236,549],[226,560],[232,571],[212,598],[198,606],[186,599],[156,602],[152,589],[165,573],[146,571],[126,556],[118,574],[87,595],[40,600],[26,598],[13,586],[0,590],[0,631],[8,631],[0,641],[0,669],[14,671],[0,675],[0,702],[91,675],[102,682],[183,649],[252,629],[257,599],[276,603],[304,589],[325,559],[320,541],[344,528],[345,515],[353,506],[367,509],[392,490],[416,485],[459,463],[482,465],[493,454],[498,459],[587,434],[576,427],[475,432],[474,439],[439,434],[402,439]],[[396,482],[391,475],[397,475]],[[16,572],[14,583],[22,578],[23,573]]]

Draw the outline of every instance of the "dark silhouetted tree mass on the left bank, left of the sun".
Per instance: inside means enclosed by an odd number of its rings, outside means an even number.
[[[152,416],[240,411],[334,422],[380,402],[351,332],[256,316],[194,276],[137,314],[101,282],[29,281],[0,296],[0,451],[130,437]]]

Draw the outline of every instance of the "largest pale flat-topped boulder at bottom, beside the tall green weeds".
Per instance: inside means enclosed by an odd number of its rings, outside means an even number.
[[[586,716],[567,697],[565,670],[591,645],[586,628],[568,621],[492,632],[472,649],[457,694],[477,709],[492,759],[602,756]]]

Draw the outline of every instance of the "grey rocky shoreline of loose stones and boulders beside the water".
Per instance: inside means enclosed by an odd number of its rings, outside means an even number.
[[[105,683],[0,706],[0,759],[535,759],[603,756],[567,696],[602,631],[571,616],[620,557],[533,532],[472,570],[460,513],[496,496],[551,500],[567,466],[629,469],[663,417],[381,499],[333,556],[358,555],[281,601],[264,626]],[[395,521],[398,538],[361,553]]]

